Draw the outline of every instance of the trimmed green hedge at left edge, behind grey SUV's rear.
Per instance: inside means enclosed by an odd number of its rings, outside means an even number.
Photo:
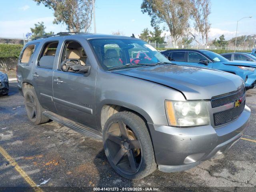
[[[0,58],[18,58],[23,45],[18,44],[0,44]]]

